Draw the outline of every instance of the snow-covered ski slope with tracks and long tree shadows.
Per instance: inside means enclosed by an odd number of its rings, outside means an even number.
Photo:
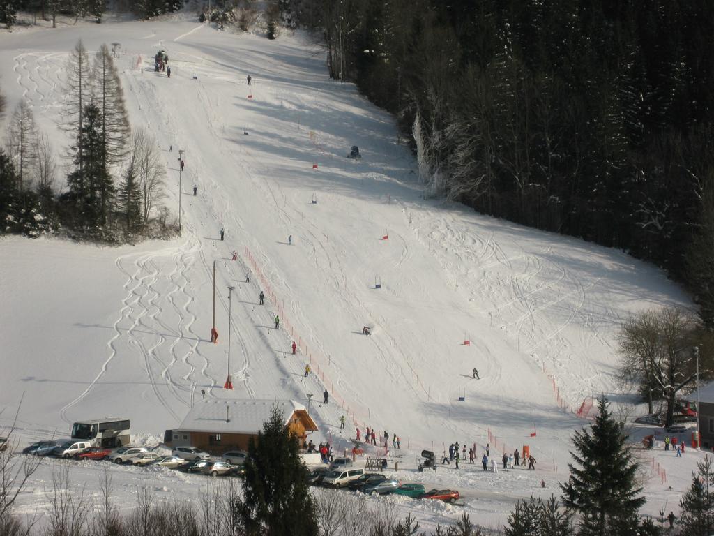
[[[341,415],[362,431],[388,430],[401,437],[401,450],[390,452],[398,478],[454,487],[465,506],[374,501],[394,503],[398,515],[413,511],[426,527],[464,508],[497,527],[516,499],[559,495],[570,436],[588,424],[575,415],[583,403],[600,393],[615,404],[630,399],[616,381],[620,322],[689,304],[661,272],[622,252],[423,199],[393,118],[352,84],[329,79],[323,51],[301,35],[268,41],[180,17],[0,33],[7,115],[24,97],[59,154],[71,143],[58,126],[61,85],[80,38],[91,56],[121,43],[116,64],[131,123],[164,152],[174,213],[178,149],[186,151],[183,234],[120,248],[0,241],[0,427],[24,394],[21,446],[64,437],[72,422],[96,415],[129,417],[156,443],[202,390],[303,404],[312,393],[315,443],[351,447],[355,430],[340,430]],[[159,49],[171,79],[154,72]],[[361,160],[346,158],[352,145]],[[214,262],[219,344],[210,342]],[[229,285],[232,392],[222,389]],[[316,403],[324,389],[328,405]],[[490,443],[497,460],[528,445],[537,470],[493,474],[465,463],[416,472],[422,449],[440,455],[455,441],[476,443],[479,459]],[[650,515],[662,506],[676,512],[700,459],[692,450],[666,454],[642,457]],[[67,464],[47,462],[35,475],[24,512],[41,509],[59,465]],[[69,477],[96,491],[105,465],[69,464]],[[192,497],[207,485],[156,469],[111,472],[124,507],[146,482],[159,497]]]

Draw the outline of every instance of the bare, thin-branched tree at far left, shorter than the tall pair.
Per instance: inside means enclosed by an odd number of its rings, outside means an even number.
[[[25,99],[17,104],[7,134],[8,154],[14,160],[17,189],[29,187],[37,164],[37,126]]]

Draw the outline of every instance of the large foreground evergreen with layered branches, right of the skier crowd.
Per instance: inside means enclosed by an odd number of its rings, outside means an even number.
[[[570,452],[575,464],[568,464],[570,480],[560,485],[565,507],[580,514],[580,536],[627,536],[637,530],[645,497],[639,496],[638,465],[626,441],[607,398],[600,398],[590,430],[575,432],[575,452]]]

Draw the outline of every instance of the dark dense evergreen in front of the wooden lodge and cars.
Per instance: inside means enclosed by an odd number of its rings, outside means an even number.
[[[316,506],[298,450],[283,412],[273,406],[270,420],[248,445],[244,498],[236,505],[246,535],[318,535]]]

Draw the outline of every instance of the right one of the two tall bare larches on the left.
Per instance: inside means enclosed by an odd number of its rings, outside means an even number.
[[[121,162],[126,156],[130,128],[119,73],[106,44],[102,44],[94,56],[92,74],[94,99],[101,109],[104,167],[109,169],[112,164]]]

